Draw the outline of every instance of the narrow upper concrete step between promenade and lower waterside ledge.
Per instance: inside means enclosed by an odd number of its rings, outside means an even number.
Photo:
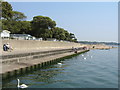
[[[60,49],[60,50],[52,50],[52,51],[29,52],[29,53],[23,52],[20,54],[13,54],[13,55],[2,55],[0,56],[0,59],[2,59],[3,64],[10,64],[10,63],[16,63],[18,61],[33,60],[33,59],[49,57],[51,55],[57,55],[72,51],[73,51],[72,49]]]

